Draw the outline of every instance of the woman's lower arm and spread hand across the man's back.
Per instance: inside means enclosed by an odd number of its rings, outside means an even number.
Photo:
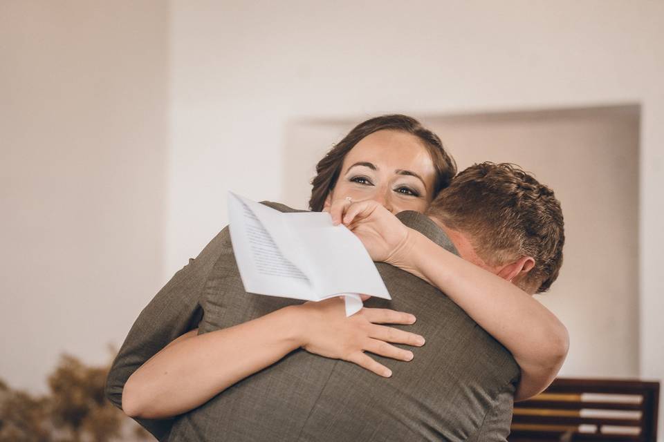
[[[387,367],[364,352],[412,360],[412,352],[387,342],[420,346],[423,338],[378,324],[414,321],[410,314],[367,308],[347,318],[344,301],[333,298],[285,307],[206,334],[197,335],[192,330],[129,377],[122,392],[122,410],[147,419],[181,414],[299,347],[391,376]]]

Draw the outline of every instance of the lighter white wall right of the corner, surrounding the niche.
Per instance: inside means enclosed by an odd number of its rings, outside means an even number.
[[[174,1],[171,23],[169,275],[227,189],[282,197],[293,121],[641,104],[640,374],[664,378],[664,3]]]

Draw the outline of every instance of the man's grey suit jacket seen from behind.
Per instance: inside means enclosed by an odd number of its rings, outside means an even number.
[[[398,217],[456,253],[424,215]],[[191,412],[137,421],[161,441],[505,441],[519,376],[513,357],[441,291],[376,266],[392,300],[372,298],[367,307],[414,314],[414,325],[396,327],[427,339],[409,347],[408,363],[372,355],[391,378],[299,349]],[[246,294],[224,229],[142,311],[111,367],[107,396],[121,407],[131,373],[196,325],[208,333],[298,302]]]

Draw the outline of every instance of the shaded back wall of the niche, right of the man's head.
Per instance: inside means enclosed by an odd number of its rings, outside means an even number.
[[[639,376],[639,109],[431,119],[460,169],[520,164],[555,191],[565,218],[560,278],[537,296],[569,329],[560,374]]]

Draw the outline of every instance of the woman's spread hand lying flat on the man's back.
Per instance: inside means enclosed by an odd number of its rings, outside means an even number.
[[[413,354],[389,343],[424,345],[424,338],[393,327],[378,324],[415,322],[411,314],[389,309],[362,308],[347,317],[340,297],[297,306],[302,313],[302,348],[307,352],[356,363],[380,376],[392,372],[364,352],[371,352],[399,361],[412,361]]]

